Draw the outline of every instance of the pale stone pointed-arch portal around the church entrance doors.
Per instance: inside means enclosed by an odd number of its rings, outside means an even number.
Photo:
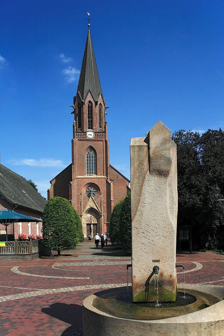
[[[88,208],[82,216],[82,228],[84,237],[94,237],[97,233],[101,233],[101,215],[98,210],[94,208]]]

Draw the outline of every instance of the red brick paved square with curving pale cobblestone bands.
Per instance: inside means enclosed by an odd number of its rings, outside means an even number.
[[[0,261],[0,335],[82,333],[82,301],[103,288],[126,286],[130,255],[111,245],[83,242],[78,257]],[[177,254],[188,284],[224,286],[224,256],[212,252]],[[178,283],[183,282],[178,270]],[[129,271],[131,281],[131,271]]]

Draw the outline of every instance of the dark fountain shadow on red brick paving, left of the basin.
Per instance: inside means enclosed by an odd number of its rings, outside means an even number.
[[[60,332],[55,335],[66,336],[72,332],[77,332],[75,335],[79,335],[78,329],[82,330],[82,306],[78,304],[56,302],[41,310],[43,313],[71,325],[62,333]],[[80,335],[82,335],[82,332],[80,332]]]

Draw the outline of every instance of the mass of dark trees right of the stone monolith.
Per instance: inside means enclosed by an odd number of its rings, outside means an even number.
[[[192,225],[194,247],[213,249],[224,245],[224,202],[213,187],[224,191],[224,132],[179,130],[177,144],[178,226]],[[223,198],[223,197],[222,197]]]

